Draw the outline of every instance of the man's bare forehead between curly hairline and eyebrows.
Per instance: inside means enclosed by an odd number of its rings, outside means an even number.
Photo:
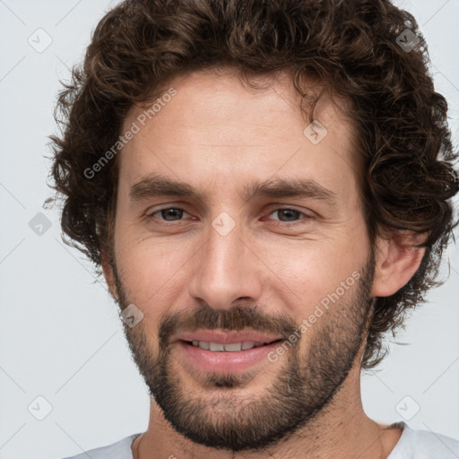
[[[131,108],[123,131],[135,124],[138,132],[120,154],[120,181],[128,186],[149,173],[187,178],[188,183],[212,176],[221,184],[299,172],[325,181],[355,178],[355,129],[343,115],[345,100],[323,93],[315,119],[326,135],[314,143],[289,75],[255,83],[258,89],[243,85],[234,73],[195,72],[171,80],[160,100]],[[312,91],[319,88],[311,85]]]

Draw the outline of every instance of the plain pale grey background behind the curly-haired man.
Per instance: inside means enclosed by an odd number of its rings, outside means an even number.
[[[91,274],[91,264],[62,243],[57,211],[41,207],[50,195],[45,157],[48,135],[56,133],[52,112],[59,80],[67,80],[69,67],[82,60],[91,30],[113,4],[0,1],[3,459],[74,455],[148,424],[147,389],[130,358],[117,307]],[[457,144],[459,0],[396,4],[414,14],[427,39],[431,73],[449,102]],[[363,377],[362,393],[374,420],[410,419],[413,429],[459,438],[458,248],[450,247],[448,256],[448,281],[398,338],[409,345],[392,344],[377,372]]]

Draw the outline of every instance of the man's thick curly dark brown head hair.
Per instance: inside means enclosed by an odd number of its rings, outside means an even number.
[[[402,46],[407,42],[411,48]],[[450,198],[459,189],[447,103],[428,74],[427,46],[413,16],[388,0],[118,4],[93,31],[84,63],[74,67],[57,100],[61,135],[50,136],[56,195],[47,204],[64,199],[65,242],[102,273],[100,255],[111,253],[117,157],[94,177],[85,170],[117,143],[134,104],[154,100],[179,74],[223,66],[247,83],[251,76],[285,71],[303,100],[307,77],[351,101],[372,245],[383,229],[427,234],[411,281],[376,299],[362,361],[363,368],[374,368],[387,353],[383,334],[395,335],[404,313],[441,283],[438,267],[455,228]]]

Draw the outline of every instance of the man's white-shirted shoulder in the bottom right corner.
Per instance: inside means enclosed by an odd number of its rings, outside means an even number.
[[[387,459],[457,459],[459,440],[430,430],[410,429],[404,422],[403,434]]]

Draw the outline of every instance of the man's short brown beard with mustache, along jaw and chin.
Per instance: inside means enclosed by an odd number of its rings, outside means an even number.
[[[111,265],[117,303],[124,310],[131,302],[114,259]],[[285,359],[278,359],[275,365],[266,363],[273,366],[273,383],[255,395],[248,394],[247,389],[247,396],[241,396],[244,387],[255,377],[252,371],[196,372],[196,380],[204,384],[198,394],[191,394],[186,381],[174,368],[177,359],[171,354],[170,338],[175,333],[198,328],[221,328],[274,333],[287,340],[299,329],[289,316],[266,316],[258,305],[238,304],[219,310],[205,306],[160,316],[158,333],[147,330],[145,321],[133,328],[125,324],[126,340],[150,395],[179,434],[215,449],[261,451],[286,440],[299,429],[312,428],[333,406],[333,399],[366,340],[373,305],[374,272],[372,253],[360,272],[358,285],[350,291],[351,298],[333,303],[316,324],[291,345],[283,356]],[[158,351],[152,349],[149,336],[158,342]],[[307,349],[301,354],[300,342],[305,339]]]

